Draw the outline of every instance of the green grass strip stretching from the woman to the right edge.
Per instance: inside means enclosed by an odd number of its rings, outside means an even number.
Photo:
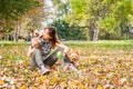
[[[130,49],[133,48],[132,40],[122,40],[122,41],[96,41],[96,42],[89,42],[89,41],[70,41],[64,42],[69,47],[81,47],[81,48],[123,48]]]

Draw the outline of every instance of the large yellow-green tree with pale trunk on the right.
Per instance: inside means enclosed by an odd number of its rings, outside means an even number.
[[[88,28],[93,41],[99,39],[101,32],[108,38],[120,38],[122,30],[129,27],[126,18],[133,12],[131,0],[71,0],[71,8],[68,21]]]

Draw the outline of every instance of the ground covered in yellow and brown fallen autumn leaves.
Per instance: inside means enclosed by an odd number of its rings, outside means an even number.
[[[48,76],[29,67],[28,46],[0,46],[0,89],[132,89],[133,49],[73,47],[81,75],[61,67]]]

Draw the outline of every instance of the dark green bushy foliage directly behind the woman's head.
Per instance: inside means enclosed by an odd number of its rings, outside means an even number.
[[[61,40],[86,40],[85,33],[81,30],[82,28],[70,27],[64,20],[54,21],[51,26],[57,28]]]

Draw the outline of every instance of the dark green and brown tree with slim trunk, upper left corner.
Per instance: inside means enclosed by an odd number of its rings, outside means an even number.
[[[30,10],[40,7],[39,0],[0,0],[0,31],[16,29],[14,40],[19,38],[20,19]],[[10,26],[8,23],[10,22]],[[7,29],[9,28],[9,29]]]

